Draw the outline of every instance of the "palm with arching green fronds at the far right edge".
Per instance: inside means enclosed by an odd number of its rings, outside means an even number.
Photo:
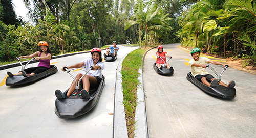
[[[238,32],[239,40],[245,42],[245,46],[250,46],[251,51],[255,51],[256,36],[256,2],[250,0],[229,0],[224,4],[226,14],[220,19],[228,20],[229,32]],[[239,48],[237,48],[239,50]],[[254,60],[256,60],[255,54]],[[252,57],[253,58],[253,57]]]

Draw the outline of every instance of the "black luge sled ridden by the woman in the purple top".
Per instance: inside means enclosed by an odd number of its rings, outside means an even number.
[[[32,61],[33,59],[29,60],[29,62],[27,62],[27,64],[23,65],[19,58],[17,58],[20,65],[22,65],[22,72],[24,72],[24,69],[25,67],[29,64],[30,61]],[[25,58],[24,58],[25,59]],[[28,59],[27,59],[28,60]],[[8,76],[6,78],[6,81],[5,81],[5,85],[6,86],[17,86],[17,85],[23,85],[23,84],[27,84],[29,82],[34,82],[40,78],[43,78],[43,77],[46,77],[46,76],[49,76],[49,75],[52,75],[54,73],[56,73],[58,71],[57,67],[54,66],[54,65],[50,65],[50,69],[48,69],[47,71],[45,72],[42,72],[42,73],[39,73],[39,74],[35,74],[33,76],[23,76],[23,75],[16,75],[16,76]]]

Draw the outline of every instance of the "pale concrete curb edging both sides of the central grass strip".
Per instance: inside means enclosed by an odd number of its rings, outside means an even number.
[[[153,47],[155,48],[155,47]],[[145,54],[153,49],[148,49],[143,54],[143,64]],[[123,101],[123,93],[122,93],[122,75],[120,73],[122,66],[120,66],[125,59],[127,54],[121,59],[118,64],[117,72],[116,72],[116,86],[115,86],[115,98],[114,98],[114,119],[113,119],[113,137],[128,137],[127,135],[127,127],[126,127],[126,119],[124,113],[124,106],[122,104]],[[148,129],[147,129],[147,118],[146,118],[146,105],[145,105],[145,93],[143,88],[143,67],[139,69],[139,73],[141,74],[138,77],[140,81],[140,86],[137,90],[137,100],[138,105],[136,106],[135,113],[135,137],[148,137]]]

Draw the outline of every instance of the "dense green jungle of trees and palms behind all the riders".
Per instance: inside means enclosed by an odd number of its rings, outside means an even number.
[[[0,0],[0,62],[38,50],[54,55],[128,41],[139,46],[181,42],[255,66],[255,0],[23,0],[29,23],[12,0]],[[31,8],[32,7],[32,8]]]

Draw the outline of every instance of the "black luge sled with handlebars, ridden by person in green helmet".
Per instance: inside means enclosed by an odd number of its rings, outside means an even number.
[[[209,67],[209,65],[207,67]],[[226,70],[227,67],[228,66],[226,65],[225,68],[223,69],[223,71],[221,72],[221,74],[224,72],[224,70]],[[222,98],[225,98],[225,99],[233,99],[234,97],[236,97],[236,89],[219,85],[219,82],[221,81],[221,78],[220,78],[221,74],[218,75],[216,73],[216,71],[214,70],[214,68],[211,68],[211,69],[218,76],[218,86],[215,87],[215,88],[202,84],[194,76],[192,76],[191,72],[189,72],[187,74],[187,80],[189,80],[194,85],[196,85],[197,87],[202,89],[205,93],[208,93],[208,94],[211,94],[211,95],[214,95],[214,96],[218,96],[218,97],[222,97]]]

